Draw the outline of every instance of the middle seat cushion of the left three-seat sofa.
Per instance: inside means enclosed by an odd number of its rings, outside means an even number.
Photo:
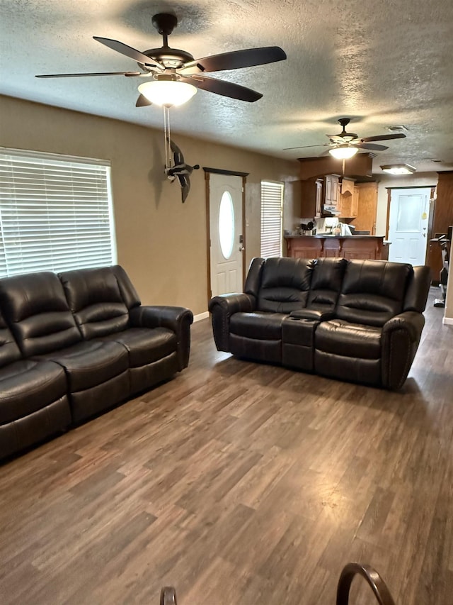
[[[96,387],[129,367],[125,347],[120,343],[101,340],[77,343],[42,357],[64,367],[71,393]]]

